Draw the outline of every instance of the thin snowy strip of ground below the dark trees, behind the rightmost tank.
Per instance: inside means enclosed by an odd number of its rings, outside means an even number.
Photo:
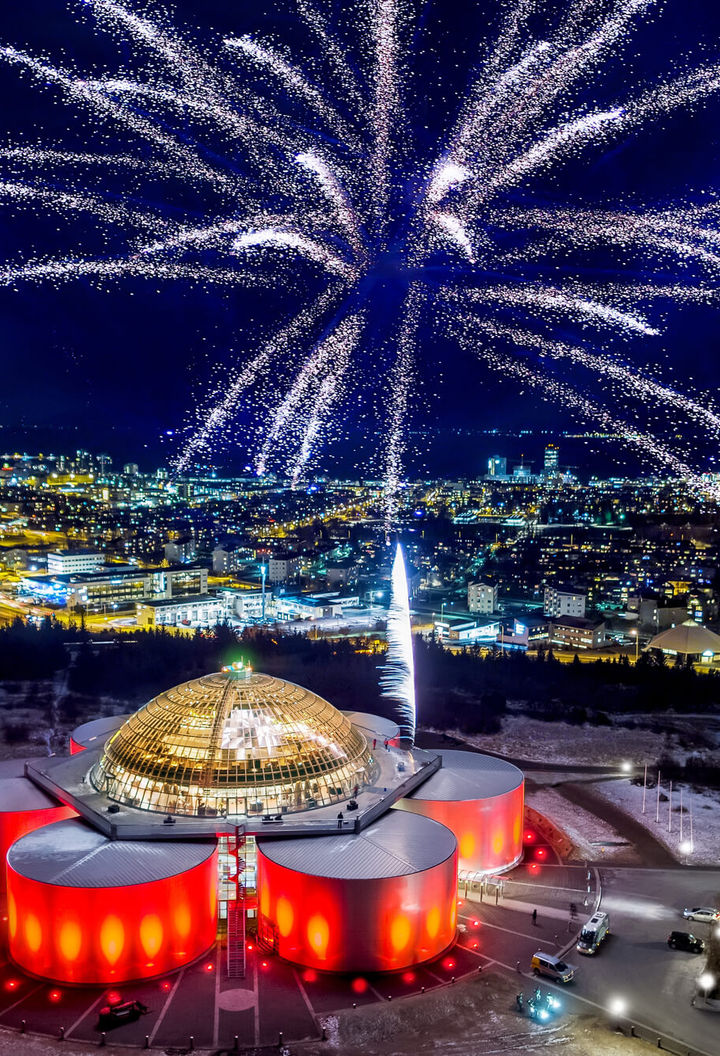
[[[651,730],[622,727],[570,725],[568,722],[541,722],[522,715],[509,715],[499,733],[466,736],[457,731],[449,734],[475,748],[497,752],[516,759],[536,759],[548,763],[620,767],[655,761],[663,752],[678,751],[676,738]]]

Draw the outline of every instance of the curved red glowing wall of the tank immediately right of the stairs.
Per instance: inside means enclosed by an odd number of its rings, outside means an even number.
[[[311,876],[258,848],[261,928],[281,957],[328,972],[392,972],[437,957],[455,940],[457,855],[378,880]]]

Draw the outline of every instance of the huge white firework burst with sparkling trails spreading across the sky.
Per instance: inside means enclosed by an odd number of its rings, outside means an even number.
[[[720,63],[684,58],[677,73],[608,98],[609,60],[660,17],[655,0],[493,2],[496,29],[432,144],[418,117],[432,86],[414,69],[427,30],[413,0],[353,0],[340,18],[295,0],[291,50],[247,26],[203,39],[136,0],[82,0],[83,19],[130,41],[130,63],[88,73],[0,46],[0,61],[79,109],[88,128],[87,151],[76,137],[68,149],[0,148],[0,206],[57,225],[81,218],[90,244],[99,235],[107,247],[86,252],[74,238],[58,256],[7,261],[0,285],[84,279],[105,289],[144,278],[286,295],[274,332],[250,338],[248,323],[239,334],[228,377],[192,412],[178,472],[239,439],[242,421],[258,471],[298,484],[364,401],[382,418],[390,527],[415,379],[435,355],[430,323],[576,414],[619,422],[700,487],[662,431],[685,421],[712,435],[715,404],[650,376],[628,350],[642,344],[641,358],[657,361],[663,307],[717,304],[720,203],[702,192],[669,205],[566,202],[547,185],[705,106],[720,93]],[[588,254],[602,261],[588,266]],[[592,398],[575,372],[590,376]],[[599,402],[603,391],[615,410]]]

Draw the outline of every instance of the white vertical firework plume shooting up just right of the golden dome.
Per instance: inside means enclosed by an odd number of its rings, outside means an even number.
[[[398,543],[393,559],[393,582],[387,609],[387,654],[380,685],[383,697],[395,701],[400,736],[415,742],[415,664],[410,625],[410,596],[402,547]]]

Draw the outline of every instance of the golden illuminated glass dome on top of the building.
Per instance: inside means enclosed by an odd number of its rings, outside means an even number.
[[[141,810],[291,813],[374,774],[363,734],[309,690],[234,664],[160,693],[107,742],[95,788]]]

